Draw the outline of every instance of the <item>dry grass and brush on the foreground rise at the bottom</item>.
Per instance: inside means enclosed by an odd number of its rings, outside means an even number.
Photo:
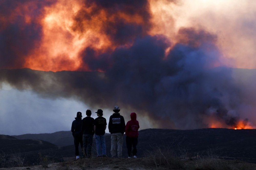
[[[6,163],[3,160],[3,155],[0,160],[2,164]],[[108,157],[94,157],[89,159],[79,159],[60,163],[50,163],[48,156],[39,155],[39,166],[32,167],[15,167],[6,169],[48,169],[48,170],[153,170],[153,169],[176,169],[176,170],[255,170],[256,164],[251,164],[242,161],[230,161],[219,159],[218,156],[208,155],[201,157],[188,158],[186,151],[179,154],[175,153],[171,147],[157,147],[142,158],[108,158]],[[15,164],[23,166],[21,156],[19,154],[14,157],[9,157],[10,160],[18,160]],[[9,161],[10,161],[9,160]],[[21,162],[20,162],[21,160]],[[9,167],[14,167],[12,164]],[[3,168],[5,170],[5,168]]]

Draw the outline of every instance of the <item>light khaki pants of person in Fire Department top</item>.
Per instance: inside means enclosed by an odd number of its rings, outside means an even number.
[[[115,156],[115,145],[117,144],[117,156],[122,157],[123,150],[123,134],[122,133],[112,133],[111,134],[111,149],[110,153]]]

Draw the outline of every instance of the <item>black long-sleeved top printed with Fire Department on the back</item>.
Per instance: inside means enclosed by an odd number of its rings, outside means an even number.
[[[122,133],[125,132],[125,122],[124,117],[120,113],[113,113],[109,117],[109,132],[112,133]]]

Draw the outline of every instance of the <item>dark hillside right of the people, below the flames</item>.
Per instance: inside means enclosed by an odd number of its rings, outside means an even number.
[[[195,130],[145,129],[140,131],[142,150],[153,146],[173,148],[187,156],[214,154],[226,159],[256,162],[256,129],[207,128]]]

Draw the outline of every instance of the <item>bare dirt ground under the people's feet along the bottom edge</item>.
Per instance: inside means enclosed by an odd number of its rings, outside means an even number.
[[[204,163],[204,165],[202,165]],[[200,162],[198,160],[185,160],[183,167],[178,167],[170,163],[156,164],[154,160],[147,158],[91,158],[91,159],[79,159],[79,160],[68,160],[60,163],[52,163],[48,165],[28,166],[28,167],[14,167],[14,168],[0,168],[0,170],[153,170],[153,169],[179,169],[179,170],[255,170],[256,164],[247,163],[242,161],[226,161],[226,160],[211,160],[210,162]],[[214,166],[211,166],[214,165]],[[216,166],[216,164],[222,164]],[[225,164],[225,165],[223,165]]]

